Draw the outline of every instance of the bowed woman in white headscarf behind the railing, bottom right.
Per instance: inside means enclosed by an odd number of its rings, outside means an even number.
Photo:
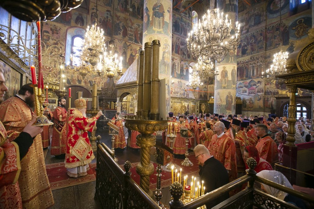
[[[293,189],[288,179],[279,171],[276,170],[262,170],[261,172],[256,174],[259,177],[262,177],[264,179],[273,181],[277,184],[283,185],[285,187],[288,187],[290,189]],[[261,188],[264,190],[267,194],[274,196],[280,200],[286,201],[288,203],[294,204],[295,206],[298,206],[300,208],[306,208],[305,203],[298,197],[290,195],[284,191],[280,191],[279,189],[273,188],[271,186],[268,186],[266,184],[261,183]]]

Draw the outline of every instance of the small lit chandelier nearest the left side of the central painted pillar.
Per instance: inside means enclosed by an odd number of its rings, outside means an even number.
[[[122,57],[118,59],[118,55],[112,55],[112,51],[104,55],[99,55],[100,61],[97,65],[97,74],[101,78],[108,77],[112,79],[113,77],[121,78],[122,73]]]

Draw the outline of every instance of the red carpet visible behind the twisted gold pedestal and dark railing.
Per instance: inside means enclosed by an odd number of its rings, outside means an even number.
[[[189,156],[189,159],[191,160],[191,162],[193,163],[193,166],[183,166],[181,165],[181,161],[183,159],[174,159],[174,161],[172,162],[173,164],[179,165],[182,168],[182,176],[188,175],[188,179],[191,179],[192,176],[199,176],[198,175],[198,171],[199,171],[199,167],[198,167],[198,160],[195,159],[194,155]],[[139,162],[138,162],[139,163]],[[132,163],[131,166],[131,172],[132,172],[132,179],[139,185],[139,181],[140,181],[140,176],[138,175],[138,173],[136,173],[136,165],[138,163]],[[157,172],[156,172],[156,167],[157,164],[154,164],[154,173],[152,175],[150,175],[150,184],[149,184],[149,189],[151,189],[152,191],[156,190],[156,182],[157,182]],[[123,168],[123,165],[120,165]],[[180,170],[179,170],[180,172]],[[165,171],[163,170],[161,172],[161,188],[165,188],[171,185],[171,171]],[[183,178],[181,178],[181,181],[183,182]],[[183,183],[182,183],[183,184]]]

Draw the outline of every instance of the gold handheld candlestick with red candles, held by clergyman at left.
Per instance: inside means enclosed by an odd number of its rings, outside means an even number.
[[[42,103],[45,101],[45,95],[41,94],[41,89],[38,89],[37,84],[31,84],[31,87],[33,87],[34,90],[34,96],[35,96],[35,108],[36,108],[36,122],[33,124],[33,126],[49,126],[53,123],[43,115],[44,108],[42,107]]]

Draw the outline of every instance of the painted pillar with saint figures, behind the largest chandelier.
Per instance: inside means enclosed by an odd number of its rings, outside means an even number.
[[[222,10],[224,15],[228,14],[234,28],[238,17],[238,0],[218,0],[217,8]],[[229,52],[222,62],[216,63],[216,71],[219,75],[215,77],[214,113],[234,115],[236,114],[236,53]]]

